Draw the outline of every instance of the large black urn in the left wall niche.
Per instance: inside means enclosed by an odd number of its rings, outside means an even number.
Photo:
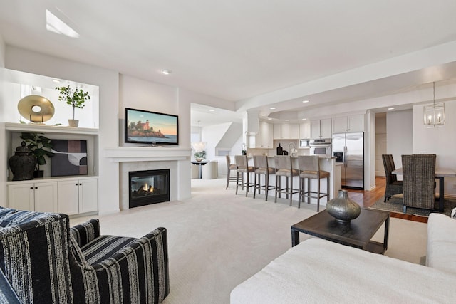
[[[13,172],[14,181],[33,179],[36,157],[26,147],[26,142],[21,142],[21,147],[16,147],[16,152],[9,158],[9,167]]]

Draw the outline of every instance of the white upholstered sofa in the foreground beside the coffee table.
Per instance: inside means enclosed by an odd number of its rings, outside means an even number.
[[[456,220],[430,214],[427,266],[308,239],[231,293],[231,304],[456,303]]]

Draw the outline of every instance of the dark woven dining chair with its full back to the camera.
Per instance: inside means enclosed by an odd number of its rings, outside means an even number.
[[[403,211],[435,208],[435,154],[402,155]]]

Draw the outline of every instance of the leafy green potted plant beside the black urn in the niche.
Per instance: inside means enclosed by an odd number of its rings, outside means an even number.
[[[29,150],[33,152],[36,157],[36,170],[33,177],[43,177],[44,172],[40,170],[40,165],[46,164],[46,157],[53,157],[54,154],[51,152],[52,143],[48,137],[44,136],[43,133],[28,133],[22,132],[21,139],[23,139]]]

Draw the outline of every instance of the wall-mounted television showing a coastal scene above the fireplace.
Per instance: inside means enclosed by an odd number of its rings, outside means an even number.
[[[177,115],[125,108],[125,142],[179,143]]]

